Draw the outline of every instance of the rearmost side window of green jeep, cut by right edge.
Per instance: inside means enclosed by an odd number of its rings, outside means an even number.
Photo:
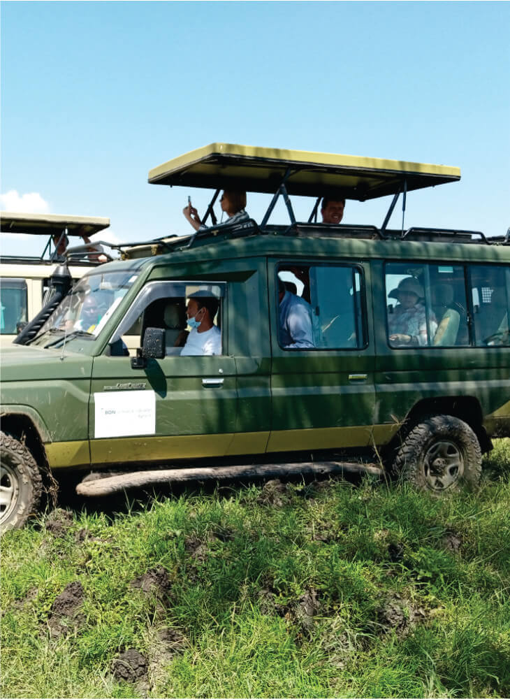
[[[510,268],[472,265],[470,288],[473,303],[474,343],[477,347],[510,345]]]

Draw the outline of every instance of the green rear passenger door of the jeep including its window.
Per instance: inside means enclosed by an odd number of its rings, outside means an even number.
[[[269,452],[365,447],[374,440],[370,267],[270,261]]]

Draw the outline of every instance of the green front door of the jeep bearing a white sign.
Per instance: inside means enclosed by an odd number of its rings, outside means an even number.
[[[190,296],[217,300],[214,328],[221,354],[181,356]],[[145,284],[94,359],[89,408],[92,463],[165,462],[223,456],[235,431],[235,361],[228,356],[228,298],[224,282]],[[133,368],[123,336],[164,331],[165,356]],[[185,338],[184,338],[185,340]],[[113,356],[112,356],[113,355]]]

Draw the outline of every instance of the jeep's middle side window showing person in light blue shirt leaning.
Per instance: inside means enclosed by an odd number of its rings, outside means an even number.
[[[284,349],[366,345],[360,269],[282,264],[278,268],[279,344]]]

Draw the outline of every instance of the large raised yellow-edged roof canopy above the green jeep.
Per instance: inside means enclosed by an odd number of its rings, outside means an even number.
[[[289,194],[340,194],[346,199],[375,199],[405,189],[460,180],[460,169],[354,155],[211,143],[154,168],[156,185],[242,189],[274,194],[286,176]]]

